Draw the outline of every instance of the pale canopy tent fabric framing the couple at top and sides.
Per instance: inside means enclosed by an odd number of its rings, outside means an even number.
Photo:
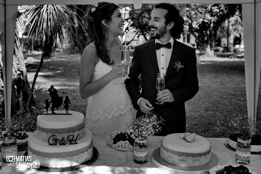
[[[106,0],[104,0],[106,1]],[[4,75],[5,118],[11,114],[11,82],[14,50],[15,22],[18,5],[34,4],[93,4],[102,0],[0,0],[0,31]],[[107,0],[119,4],[159,3],[158,0]],[[244,57],[248,116],[256,118],[261,69],[261,0],[167,0],[174,4],[241,3],[243,15]]]

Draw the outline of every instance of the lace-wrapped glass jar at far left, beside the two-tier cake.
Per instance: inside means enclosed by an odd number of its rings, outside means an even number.
[[[17,150],[17,144],[15,137],[12,137],[12,139],[3,139],[2,140],[2,146],[1,146],[1,157],[3,161],[6,163],[7,158],[6,156],[17,156],[18,150]]]

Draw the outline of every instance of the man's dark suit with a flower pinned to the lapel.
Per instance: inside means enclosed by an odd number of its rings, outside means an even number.
[[[177,71],[175,62],[179,61],[183,68]],[[161,115],[165,120],[161,133],[165,136],[172,133],[186,131],[185,102],[193,98],[199,90],[197,77],[197,60],[195,50],[174,39],[170,62],[165,74],[165,88],[169,89],[174,97],[174,102],[165,102],[157,105],[156,79],[159,73],[155,40],[148,41],[135,47],[130,67],[129,77],[125,80],[127,92],[132,100],[134,109],[141,113],[137,101],[139,98],[149,100],[155,106],[154,114]],[[142,92],[137,88],[138,76],[141,74]]]

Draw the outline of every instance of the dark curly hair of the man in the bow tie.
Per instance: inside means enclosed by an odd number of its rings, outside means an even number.
[[[180,39],[181,34],[184,35],[184,19],[179,15],[180,11],[170,3],[159,3],[155,5],[155,8],[161,8],[168,11],[164,16],[165,25],[174,21],[174,26],[170,29],[170,34],[174,39]]]

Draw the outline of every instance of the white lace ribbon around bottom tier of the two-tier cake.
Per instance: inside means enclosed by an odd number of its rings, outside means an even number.
[[[28,149],[28,156],[31,156],[33,162],[40,162],[40,166],[53,168],[71,167],[78,164],[82,164],[85,161],[90,160],[92,158],[92,155],[93,146],[87,152],[81,153],[73,157],[65,158],[43,158],[40,156],[36,156],[35,154],[32,154],[32,152],[30,152]]]

